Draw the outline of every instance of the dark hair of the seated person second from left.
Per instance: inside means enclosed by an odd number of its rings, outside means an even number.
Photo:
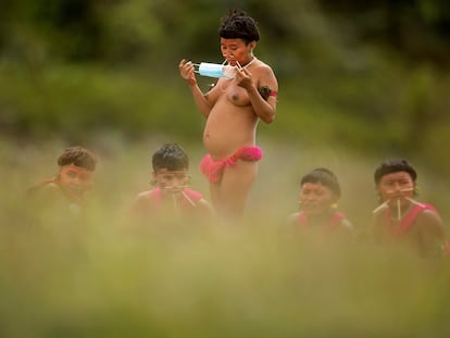
[[[178,143],[165,143],[152,157],[153,171],[162,168],[179,171],[189,168],[189,158]]]

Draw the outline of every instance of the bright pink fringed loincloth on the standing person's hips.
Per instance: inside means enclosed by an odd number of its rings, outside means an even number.
[[[214,161],[210,154],[207,154],[200,163],[200,171],[208,177],[210,183],[220,183],[224,171],[228,166],[235,166],[237,160],[257,162],[263,155],[260,147],[240,147],[229,158]]]

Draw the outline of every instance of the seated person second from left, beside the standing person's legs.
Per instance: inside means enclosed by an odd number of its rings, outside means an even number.
[[[203,196],[189,189],[189,158],[177,143],[166,143],[152,155],[154,187],[140,192],[132,214],[139,221],[211,222],[213,212]]]

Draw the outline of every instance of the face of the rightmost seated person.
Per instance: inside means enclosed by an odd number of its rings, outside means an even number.
[[[400,201],[401,205],[409,204],[408,198],[414,196],[414,189],[415,183],[407,172],[387,174],[382,177],[377,186],[382,200],[384,202],[390,200],[389,204],[392,206],[397,205],[397,201]]]

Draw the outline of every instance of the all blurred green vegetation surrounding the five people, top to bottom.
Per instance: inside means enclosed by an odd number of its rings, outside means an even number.
[[[124,210],[164,141],[187,149],[208,195],[203,121],[177,64],[221,62],[218,18],[235,7],[260,23],[255,54],[280,87],[247,222],[129,231]],[[392,155],[450,220],[449,25],[443,0],[2,1],[0,336],[447,337],[448,266],[279,229],[300,176],[328,166],[364,234],[373,171]],[[74,143],[100,158],[95,213],[75,229],[29,228],[25,189]]]

